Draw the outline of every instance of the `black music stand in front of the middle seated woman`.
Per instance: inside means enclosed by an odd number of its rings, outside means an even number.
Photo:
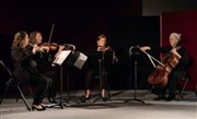
[[[88,63],[91,67],[99,68],[99,78],[100,78],[100,95],[97,98],[94,99],[94,103],[96,100],[100,100],[102,98],[102,81],[105,80],[105,70],[109,71],[112,64],[114,64],[114,51],[90,51],[88,53]],[[99,62],[99,63],[97,63]],[[106,100],[111,100],[111,92],[109,92],[109,79],[107,81],[108,85],[108,97]],[[112,102],[112,100],[111,100]]]

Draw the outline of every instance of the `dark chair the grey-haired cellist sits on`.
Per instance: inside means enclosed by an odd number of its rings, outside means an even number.
[[[179,88],[179,96],[178,96],[178,99],[179,100],[181,98],[183,98],[183,94],[184,94],[184,91],[188,84],[188,82],[192,83],[193,87],[195,88],[195,95],[197,96],[197,85],[195,84],[195,82],[192,80],[192,75],[190,75],[190,72],[192,72],[192,67],[193,67],[193,60],[192,58],[189,59],[189,62],[188,62],[188,66],[186,68],[186,75],[185,75],[185,79],[182,79],[178,81],[178,83],[182,83],[183,84],[183,87]]]

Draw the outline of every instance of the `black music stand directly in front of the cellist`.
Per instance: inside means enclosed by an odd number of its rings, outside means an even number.
[[[134,75],[135,75],[135,96],[134,96],[134,98],[131,98],[131,99],[126,99],[125,100],[125,103],[127,103],[127,102],[129,102],[129,100],[137,100],[137,102],[141,102],[142,104],[144,104],[144,102],[143,100],[141,100],[141,99],[138,99],[137,98],[137,90],[138,90],[138,87],[137,87],[137,80],[138,80],[138,78],[137,78],[137,75],[138,75],[138,62],[137,62],[137,60],[136,60],[136,57],[137,56],[139,56],[140,55],[140,49],[139,49],[139,47],[130,47],[130,49],[129,49],[129,57],[134,57],[134,62],[135,62],[135,69],[134,69]],[[131,86],[131,74],[132,74],[132,70],[130,70],[130,78],[129,78],[129,85]],[[131,87],[130,87],[131,88]]]

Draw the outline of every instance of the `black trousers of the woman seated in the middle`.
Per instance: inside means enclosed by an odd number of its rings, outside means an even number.
[[[102,70],[100,72],[99,69],[89,69],[86,71],[86,75],[85,75],[85,88],[90,90],[92,88],[91,84],[92,81],[95,80],[94,76],[97,76],[100,80],[100,73],[101,73],[101,87],[102,90],[106,90],[107,88],[107,84],[108,84],[108,71],[106,69]]]

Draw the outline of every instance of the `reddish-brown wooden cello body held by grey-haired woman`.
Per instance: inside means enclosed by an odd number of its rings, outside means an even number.
[[[157,66],[154,71],[149,75],[148,83],[159,87],[164,87],[167,84],[169,74],[177,66],[178,61],[179,58],[176,55],[167,55],[167,57],[164,58],[164,66]]]

